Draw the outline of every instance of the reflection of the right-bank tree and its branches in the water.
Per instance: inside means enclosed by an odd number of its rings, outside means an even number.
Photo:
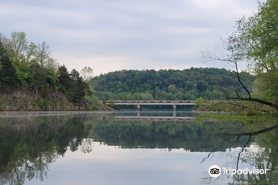
[[[228,185],[267,185],[278,184],[278,125],[263,129],[260,131],[233,134],[242,137],[249,135],[249,139],[245,145],[238,152],[237,156],[234,156],[236,160],[230,162],[229,165],[234,164],[236,169],[239,169],[239,162],[250,164],[255,169],[268,169],[267,174],[236,174],[233,176],[221,174],[218,178],[211,178],[207,172],[204,173],[202,178],[203,184],[213,184],[216,181],[223,181],[223,178],[232,178]],[[260,143],[256,145],[257,151],[252,151],[247,148],[252,137],[255,137],[255,141]],[[239,138],[237,139],[237,141]],[[231,166],[230,166],[231,167]]]

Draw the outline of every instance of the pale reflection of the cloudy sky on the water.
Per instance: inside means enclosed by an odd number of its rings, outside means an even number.
[[[248,151],[257,146],[251,146]],[[118,146],[100,145],[91,139],[83,139],[81,150],[66,152],[64,158],[57,159],[48,173],[47,184],[186,184],[198,185],[200,178],[212,165],[224,167],[242,148],[231,152],[214,152],[200,164],[209,152],[189,152],[183,149],[121,149]],[[225,155],[224,155],[224,154]],[[244,154],[246,152],[243,152]],[[233,154],[230,156],[229,154]],[[236,162],[236,161],[235,161]],[[232,164],[231,164],[232,165]],[[248,164],[241,164],[243,167]],[[244,166],[245,165],[245,166]],[[230,166],[232,167],[232,166]],[[221,184],[231,178],[222,175]],[[220,182],[220,181],[219,181]],[[28,181],[26,184],[36,184]]]

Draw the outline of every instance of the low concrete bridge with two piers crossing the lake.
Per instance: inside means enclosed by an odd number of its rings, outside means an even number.
[[[177,105],[195,105],[195,100],[98,100],[106,105],[137,105],[137,110],[142,110],[142,105],[173,105],[173,110],[177,110]],[[211,101],[205,101],[209,103]]]

